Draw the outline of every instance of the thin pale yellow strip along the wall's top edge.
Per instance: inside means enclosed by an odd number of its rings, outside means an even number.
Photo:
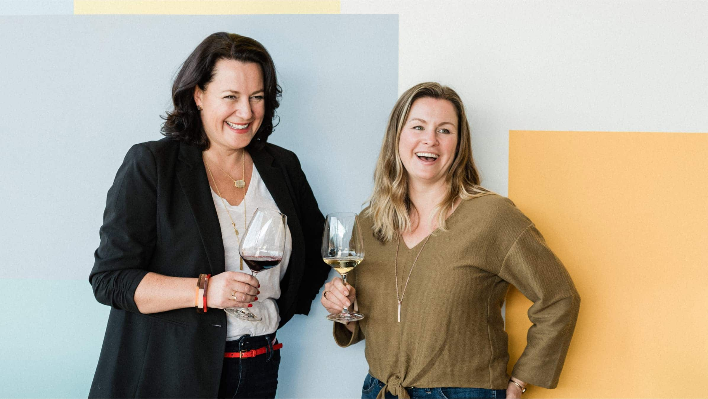
[[[333,0],[74,0],[74,14],[338,14]]]

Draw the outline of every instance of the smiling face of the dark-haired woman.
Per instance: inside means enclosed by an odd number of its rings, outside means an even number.
[[[263,123],[263,72],[253,62],[222,59],[216,62],[212,82],[194,89],[202,107],[202,126],[211,145],[237,150],[249,145]]]

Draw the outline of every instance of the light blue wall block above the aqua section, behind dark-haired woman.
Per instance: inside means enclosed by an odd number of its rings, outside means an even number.
[[[162,137],[173,75],[218,30],[272,53],[270,140],[299,154],[321,210],[360,210],[396,99],[397,29],[396,16],[0,17],[0,277],[86,277],[125,152]]]

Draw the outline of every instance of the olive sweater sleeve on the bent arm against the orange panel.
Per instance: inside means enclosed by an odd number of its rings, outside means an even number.
[[[570,274],[530,225],[510,247],[499,276],[533,302],[528,310],[533,325],[512,375],[535,386],[556,388],[580,309]]]

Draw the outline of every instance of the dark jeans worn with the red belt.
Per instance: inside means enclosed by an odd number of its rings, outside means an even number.
[[[275,333],[244,336],[236,341],[226,343],[226,352],[273,348]],[[277,342],[277,341],[276,341]],[[278,389],[278,368],[280,367],[280,350],[268,350],[258,356],[224,358],[221,383],[219,383],[219,398],[275,398]]]

